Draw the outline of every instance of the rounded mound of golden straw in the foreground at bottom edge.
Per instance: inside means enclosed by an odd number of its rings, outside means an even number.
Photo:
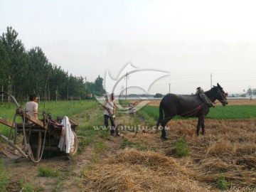
[[[208,191],[188,178],[175,159],[152,151],[124,149],[93,165],[84,179],[86,191]]]

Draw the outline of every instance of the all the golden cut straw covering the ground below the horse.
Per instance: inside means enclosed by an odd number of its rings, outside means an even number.
[[[196,137],[196,120],[172,122],[160,142],[159,133],[138,134],[129,141],[140,148],[114,151],[87,170],[85,191],[219,191],[224,178],[229,191],[253,191],[256,186],[255,121],[210,120],[206,135]],[[174,144],[183,137],[189,156],[180,158]],[[136,149],[137,147],[137,149]],[[145,149],[147,149],[145,147]]]

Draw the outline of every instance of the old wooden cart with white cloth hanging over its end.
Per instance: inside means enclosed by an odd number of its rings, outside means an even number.
[[[73,120],[64,117],[65,124],[63,124],[62,119],[53,119],[51,114],[46,114],[46,110],[43,110],[42,119],[36,119],[18,105],[14,96],[3,91],[0,91],[1,94],[11,97],[16,105],[13,122],[0,117],[0,123],[9,127],[9,136],[0,133],[0,151],[6,156],[13,159],[25,157],[39,162],[46,149],[65,151],[68,156],[73,156],[78,151],[78,137],[75,133],[78,124]],[[68,138],[68,134],[72,134],[73,137]],[[71,147],[65,145],[68,139],[72,139]],[[62,147],[60,147],[60,141],[63,143]],[[67,147],[70,149],[67,150]]]

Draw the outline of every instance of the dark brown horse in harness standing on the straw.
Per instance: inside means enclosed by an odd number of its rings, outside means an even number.
[[[196,134],[199,135],[200,128],[202,134],[205,133],[204,119],[210,107],[213,107],[215,100],[219,100],[223,106],[228,105],[228,93],[223,91],[223,87],[217,83],[210,90],[196,95],[165,95],[159,105],[159,120],[156,127],[161,124],[161,139],[166,139],[166,124],[174,116],[181,117],[198,117]],[[164,115],[163,115],[164,112]]]

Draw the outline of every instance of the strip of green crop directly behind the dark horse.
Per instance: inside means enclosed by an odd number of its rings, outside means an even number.
[[[157,120],[159,118],[159,107],[145,106],[137,114],[148,119],[149,117]],[[230,105],[216,106],[210,108],[206,116],[207,119],[248,119],[256,118],[256,105]],[[183,117],[174,117],[174,119],[184,119]]]

